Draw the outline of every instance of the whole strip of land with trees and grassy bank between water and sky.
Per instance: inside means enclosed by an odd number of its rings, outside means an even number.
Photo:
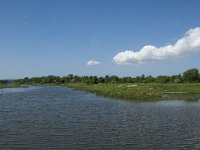
[[[13,81],[12,81],[13,82]],[[189,69],[172,76],[43,76],[11,81],[0,81],[0,88],[25,85],[57,85],[96,93],[97,95],[130,100],[200,99],[199,71]],[[8,86],[9,85],[9,86]]]

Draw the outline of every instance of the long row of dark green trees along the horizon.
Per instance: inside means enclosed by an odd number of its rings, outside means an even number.
[[[67,84],[67,83],[86,83],[86,84],[98,84],[98,83],[200,83],[200,73],[198,69],[188,69],[182,74],[163,76],[159,75],[153,77],[151,75],[137,76],[137,77],[118,77],[115,75],[104,77],[98,76],[77,76],[69,74],[67,76],[43,76],[43,77],[25,77],[24,79],[15,80],[17,84]]]

